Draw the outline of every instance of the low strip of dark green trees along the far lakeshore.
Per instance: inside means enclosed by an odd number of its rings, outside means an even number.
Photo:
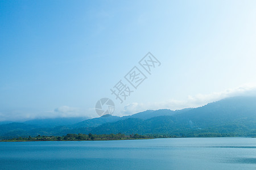
[[[139,134],[67,134],[62,137],[41,136],[37,137],[18,137],[5,139],[0,142],[26,142],[26,141],[110,141],[110,140],[130,140],[130,139],[154,139],[171,138],[171,135],[139,135]]]

